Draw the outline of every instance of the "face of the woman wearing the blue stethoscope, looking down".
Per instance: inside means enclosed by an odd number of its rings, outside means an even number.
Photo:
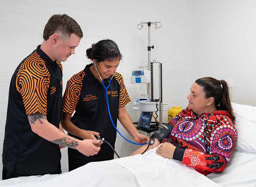
[[[94,60],[93,60],[94,61]],[[119,65],[119,58],[114,59],[113,61],[96,61],[96,67],[101,78],[108,78],[113,75]]]

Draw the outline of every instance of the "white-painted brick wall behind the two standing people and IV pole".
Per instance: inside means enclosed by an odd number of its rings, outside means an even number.
[[[4,126],[9,83],[17,65],[43,41],[43,29],[52,14],[67,13],[81,26],[84,37],[72,55],[63,62],[63,91],[67,80],[89,62],[85,50],[102,39],[118,44],[123,61],[117,71],[124,76],[127,91],[135,101],[146,93],[146,85],[131,84],[133,69],[147,65],[148,27],[137,29],[141,21],[160,21],[162,28],[151,26],[151,60],[163,63],[164,103],[186,107],[190,87],[190,0],[91,1],[91,0],[0,0],[0,153],[3,149]],[[140,112],[127,111],[133,121]],[[164,122],[167,112],[164,112]],[[121,124],[118,129],[132,140]],[[117,135],[116,151],[120,156],[131,154],[138,146]],[[67,148],[62,149],[62,171],[68,171]],[[2,161],[0,161],[2,173]],[[2,175],[1,175],[2,176]]]

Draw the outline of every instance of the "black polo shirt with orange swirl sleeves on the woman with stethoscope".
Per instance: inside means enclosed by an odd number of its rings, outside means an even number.
[[[106,90],[93,75],[90,66],[72,76],[67,83],[67,88],[63,96],[63,111],[75,114],[71,122],[80,129],[95,131],[100,133],[101,138],[105,138],[113,147],[116,141],[116,129],[111,123],[108,114]],[[110,79],[104,79],[108,82]],[[108,83],[105,83],[108,86]],[[118,108],[130,102],[130,98],[124,86],[123,76],[115,73],[108,88],[108,103],[113,122],[116,126]],[[79,140],[76,137],[69,134]],[[113,150],[107,144],[102,144],[97,155],[84,156],[75,149],[68,148],[68,155],[84,160],[103,160],[114,155]]]

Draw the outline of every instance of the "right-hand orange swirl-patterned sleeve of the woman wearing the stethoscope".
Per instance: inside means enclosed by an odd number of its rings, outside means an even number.
[[[116,78],[116,81],[120,84],[119,107],[123,107],[125,104],[129,103],[131,99],[124,86],[123,76],[120,73],[116,72],[114,77]]]

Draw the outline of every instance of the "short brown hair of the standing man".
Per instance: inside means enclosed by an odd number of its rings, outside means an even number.
[[[63,38],[69,38],[72,33],[76,34],[80,38],[83,38],[81,27],[73,18],[69,17],[67,14],[52,15],[44,27],[44,40],[48,40],[49,37],[55,32],[62,34]]]

